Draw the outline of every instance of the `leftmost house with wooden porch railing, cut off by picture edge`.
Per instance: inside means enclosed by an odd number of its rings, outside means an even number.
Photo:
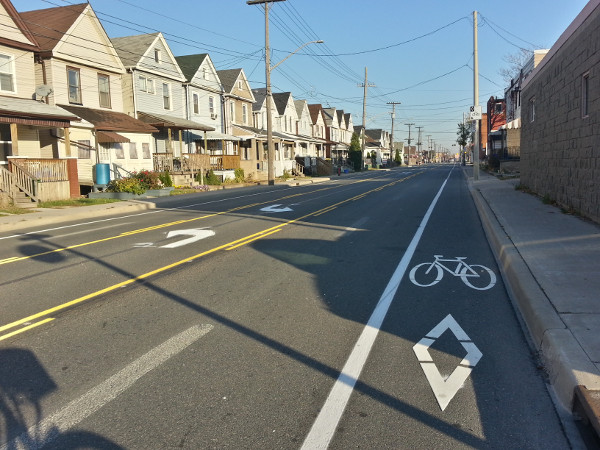
[[[23,206],[35,206],[37,200],[79,195],[70,142],[67,138],[59,157],[55,137],[68,137],[78,118],[46,103],[52,89],[36,79],[40,47],[8,0],[0,0],[0,29],[0,201],[16,203],[24,196]]]

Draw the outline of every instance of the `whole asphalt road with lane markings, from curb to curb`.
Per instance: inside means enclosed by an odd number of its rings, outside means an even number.
[[[157,208],[0,241],[0,448],[569,448],[457,167]]]

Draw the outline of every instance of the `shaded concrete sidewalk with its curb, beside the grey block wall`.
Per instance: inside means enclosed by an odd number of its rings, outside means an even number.
[[[516,190],[519,179],[480,172],[474,181],[472,167],[463,172],[558,399],[593,413],[600,405],[600,226]]]

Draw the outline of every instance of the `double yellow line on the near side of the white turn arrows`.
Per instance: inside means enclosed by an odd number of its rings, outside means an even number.
[[[417,175],[417,174],[415,174],[415,175]],[[401,182],[403,182],[405,180],[408,180],[409,178],[412,178],[415,175],[412,175],[410,177],[402,178],[400,180],[396,180],[396,181],[393,181],[391,183],[385,184],[384,187],[389,187],[389,186],[393,186],[393,185],[395,185],[397,183],[401,183]],[[144,274],[138,275],[138,276],[136,276],[134,278],[130,278],[130,279],[121,281],[120,283],[113,284],[112,286],[108,286],[108,287],[106,287],[104,289],[100,289],[98,291],[91,292],[89,294],[86,294],[86,295],[81,296],[79,298],[76,298],[74,300],[68,301],[66,303],[54,306],[54,307],[46,309],[44,311],[40,311],[40,312],[38,312],[36,314],[32,314],[30,316],[24,317],[23,319],[17,320],[15,322],[11,322],[11,323],[8,323],[6,325],[0,326],[0,333],[3,332],[3,331],[9,330],[11,328],[17,327],[19,325],[22,325],[24,323],[32,322],[32,321],[40,319],[42,317],[49,316],[50,314],[54,314],[56,312],[65,310],[65,309],[70,308],[72,306],[75,306],[77,304],[83,303],[83,302],[85,302],[87,300],[99,297],[100,295],[107,294],[107,293],[115,291],[115,290],[117,290],[119,288],[128,286],[128,285],[133,284],[135,282],[145,280],[145,279],[150,278],[150,277],[152,277],[154,275],[157,275],[159,273],[162,273],[162,272],[165,272],[167,270],[173,269],[175,267],[181,266],[182,264],[194,261],[196,259],[200,259],[200,258],[202,258],[204,256],[207,256],[207,255],[210,255],[212,253],[218,252],[219,250],[231,250],[233,248],[240,247],[242,245],[248,244],[248,243],[250,243],[252,241],[255,241],[257,239],[261,239],[263,237],[270,236],[270,235],[272,235],[272,234],[274,234],[274,233],[276,233],[278,231],[281,231],[281,229],[283,227],[287,226],[287,225],[294,224],[296,222],[300,222],[300,221],[302,221],[302,220],[304,220],[304,219],[306,219],[308,217],[314,217],[314,216],[318,216],[318,215],[324,214],[325,212],[328,212],[328,211],[330,211],[330,210],[332,210],[334,208],[337,208],[338,206],[343,205],[344,203],[348,203],[348,202],[354,201],[356,198],[363,197],[366,194],[369,194],[369,193],[372,193],[372,192],[375,192],[375,191],[376,191],[376,189],[372,189],[372,190],[367,191],[365,193],[359,194],[359,195],[357,195],[355,197],[347,198],[347,199],[342,200],[342,201],[340,201],[338,203],[334,203],[333,205],[329,205],[329,206],[327,206],[325,208],[321,208],[321,209],[319,209],[317,211],[313,211],[313,212],[305,214],[305,215],[303,215],[301,217],[297,217],[296,219],[291,219],[291,220],[288,220],[287,222],[281,223],[281,224],[273,226],[271,228],[267,228],[267,229],[265,229],[263,231],[260,231],[258,233],[254,233],[254,234],[245,236],[243,238],[236,239],[235,241],[228,242],[227,244],[219,245],[218,247],[214,247],[214,248],[212,248],[210,250],[206,250],[206,251],[198,253],[196,255],[189,256],[187,258],[184,258],[184,259],[181,259],[179,261],[176,261],[176,262],[174,262],[172,264],[168,264],[166,266],[159,267],[157,269],[151,270],[150,272],[146,272]],[[269,203],[272,203],[272,202],[269,202]],[[45,321],[39,322],[38,324],[36,324],[34,326],[41,325],[42,323],[48,322],[50,320],[52,320],[52,319],[51,318],[47,318],[47,319],[45,319]],[[29,328],[32,328],[32,327],[33,327],[32,325],[29,325],[28,327],[24,327],[23,329],[21,329],[19,331],[22,332],[25,329],[29,329]],[[10,335],[14,335],[14,334],[16,334],[16,332],[11,333]],[[0,337],[0,340],[6,339],[7,336],[8,335],[4,335],[4,336]]]

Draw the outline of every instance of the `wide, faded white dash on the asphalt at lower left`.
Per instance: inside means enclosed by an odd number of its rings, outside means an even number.
[[[73,400],[63,409],[29,427],[26,432],[0,447],[0,450],[16,448],[31,450],[44,447],[59,437],[60,433],[74,427],[114,400],[152,369],[185,350],[212,328],[212,325],[195,325],[173,336],[78,399]]]

